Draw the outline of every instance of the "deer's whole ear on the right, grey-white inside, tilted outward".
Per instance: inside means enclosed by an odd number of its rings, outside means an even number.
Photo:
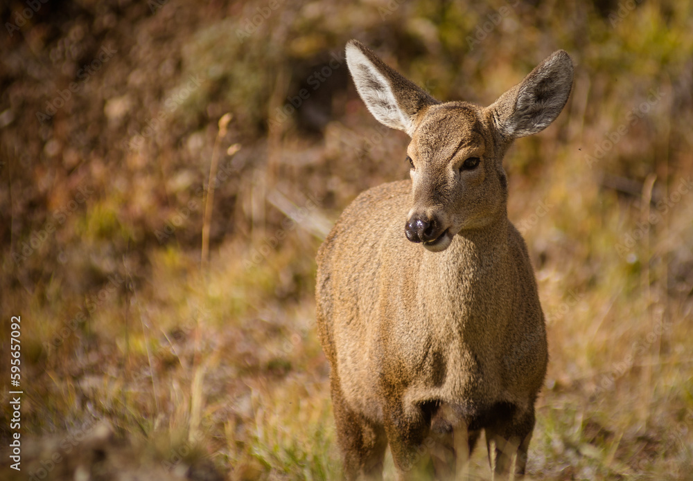
[[[563,50],[538,64],[525,80],[504,93],[489,109],[503,136],[536,134],[561,114],[572,89],[572,60]]]

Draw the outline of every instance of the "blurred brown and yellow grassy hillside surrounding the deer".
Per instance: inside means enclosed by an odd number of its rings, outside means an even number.
[[[570,53],[568,105],[505,158],[550,343],[529,475],[693,479],[692,7],[3,2],[3,479],[338,478],[315,253],[409,169],[356,94],[351,38],[481,105]]]

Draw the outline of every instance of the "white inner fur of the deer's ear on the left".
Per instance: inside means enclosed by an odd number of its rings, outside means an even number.
[[[358,47],[347,46],[347,65],[356,84],[356,90],[368,110],[378,122],[405,131],[409,136],[414,133],[412,118],[400,109],[392,93],[387,78]]]

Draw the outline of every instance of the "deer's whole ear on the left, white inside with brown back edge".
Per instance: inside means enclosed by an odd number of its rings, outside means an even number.
[[[403,130],[411,136],[416,114],[438,103],[426,91],[385,65],[358,40],[347,43],[347,65],[366,107],[387,127]]]

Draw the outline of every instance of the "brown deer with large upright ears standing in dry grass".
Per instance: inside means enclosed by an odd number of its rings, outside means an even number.
[[[561,113],[556,51],[489,107],[441,103],[356,40],[369,111],[411,138],[411,181],[363,192],[317,255],[317,326],[347,479],[452,479],[484,430],[491,469],[522,475],[547,365],[527,247],[507,217],[502,161]],[[421,245],[419,245],[421,244]]]

